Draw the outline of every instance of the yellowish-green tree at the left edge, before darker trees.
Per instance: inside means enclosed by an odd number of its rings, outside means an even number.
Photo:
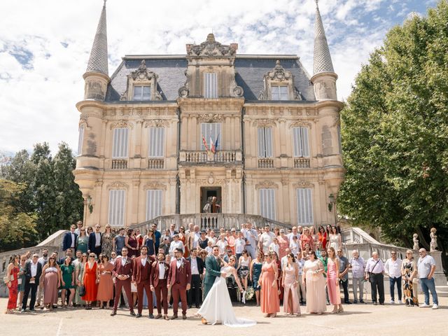
[[[0,251],[29,244],[36,235],[36,215],[15,211],[25,185],[0,179]]]

